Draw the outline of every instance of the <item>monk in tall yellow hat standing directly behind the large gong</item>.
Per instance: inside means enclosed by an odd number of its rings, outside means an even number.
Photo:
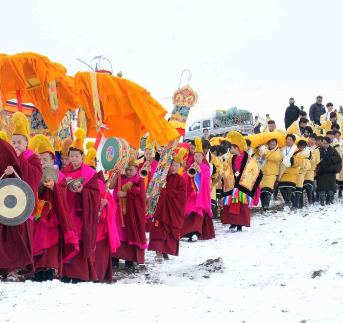
[[[37,196],[38,185],[42,178],[42,168],[38,157],[32,150],[27,149],[30,134],[28,120],[21,112],[15,113],[12,119],[15,125],[12,135],[12,146],[14,147],[17,159],[13,159],[12,153],[2,157],[4,162],[7,162],[7,168],[4,170],[4,173],[10,177],[16,177],[14,171],[18,170],[19,162],[21,171],[20,173],[17,172],[18,175],[31,187],[34,196]],[[6,152],[7,145],[4,147]],[[19,226],[3,226],[2,228],[3,237],[7,237],[7,239],[0,247],[2,253],[5,254],[5,257],[0,256],[0,274],[7,275],[8,281],[19,281],[19,270],[25,273],[34,271],[32,228],[32,216]]]

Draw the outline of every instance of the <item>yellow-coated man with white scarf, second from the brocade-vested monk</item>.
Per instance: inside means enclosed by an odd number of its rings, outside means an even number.
[[[286,206],[290,204],[292,192],[296,187],[296,177],[299,173],[298,166],[301,164],[301,158],[294,156],[297,151],[294,142],[295,136],[288,134],[286,146],[281,148],[282,162],[280,163],[278,188]]]

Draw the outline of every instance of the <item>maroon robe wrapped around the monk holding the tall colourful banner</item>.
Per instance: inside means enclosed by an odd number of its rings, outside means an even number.
[[[179,255],[180,230],[186,208],[186,182],[179,174],[167,176],[151,223],[148,250]],[[158,224],[158,226],[156,226]]]

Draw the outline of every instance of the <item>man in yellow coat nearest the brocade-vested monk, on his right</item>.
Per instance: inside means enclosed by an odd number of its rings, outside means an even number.
[[[282,161],[281,150],[277,145],[276,139],[270,139],[268,146],[259,146],[259,155],[261,157],[258,165],[263,173],[261,186],[261,204],[264,211],[269,209],[270,198],[273,192],[274,184],[279,175],[279,167]]]

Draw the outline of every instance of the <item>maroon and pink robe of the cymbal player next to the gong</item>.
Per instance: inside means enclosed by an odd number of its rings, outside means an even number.
[[[79,252],[73,218],[67,202],[67,182],[59,172],[53,190],[38,193],[45,201],[41,216],[33,227],[33,255],[36,272],[55,269],[62,276],[63,262]]]

